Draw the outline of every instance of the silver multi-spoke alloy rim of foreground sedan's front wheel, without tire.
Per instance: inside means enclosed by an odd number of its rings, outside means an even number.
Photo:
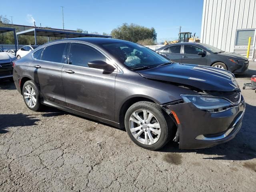
[[[161,135],[161,126],[149,110],[136,110],[129,120],[130,132],[134,138],[145,145],[156,143]]]

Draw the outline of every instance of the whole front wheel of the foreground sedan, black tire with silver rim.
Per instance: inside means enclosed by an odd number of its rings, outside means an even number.
[[[174,122],[153,102],[137,102],[128,108],[124,124],[130,139],[148,150],[158,150],[174,136]]]

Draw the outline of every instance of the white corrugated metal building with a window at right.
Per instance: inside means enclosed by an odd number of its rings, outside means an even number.
[[[204,0],[201,41],[256,60],[256,0]]]

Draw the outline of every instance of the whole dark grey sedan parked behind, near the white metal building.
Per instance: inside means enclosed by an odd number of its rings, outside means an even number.
[[[176,43],[156,50],[159,54],[178,63],[198,64],[242,73],[248,69],[248,59],[240,54],[224,52],[203,43]]]

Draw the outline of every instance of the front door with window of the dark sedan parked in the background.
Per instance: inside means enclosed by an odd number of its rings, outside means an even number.
[[[198,55],[199,52],[204,52],[204,55]],[[206,51],[193,45],[184,45],[182,53],[182,63],[206,65]]]

